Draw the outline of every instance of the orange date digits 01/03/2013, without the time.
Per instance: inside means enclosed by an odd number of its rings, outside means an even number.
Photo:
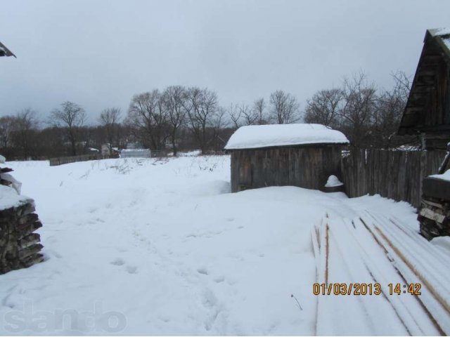
[[[379,283],[314,283],[312,286],[314,295],[380,295]]]

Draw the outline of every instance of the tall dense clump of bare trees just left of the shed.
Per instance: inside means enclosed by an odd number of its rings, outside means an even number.
[[[134,95],[124,122],[144,145],[162,150],[170,144],[176,155],[179,133],[184,128],[191,131],[205,153],[223,128],[223,117],[224,109],[219,107],[214,91],[169,86],[162,92],[155,89]]]

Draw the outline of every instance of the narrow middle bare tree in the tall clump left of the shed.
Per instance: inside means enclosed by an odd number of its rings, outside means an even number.
[[[186,107],[188,105],[185,101],[187,97],[186,88],[183,86],[169,86],[162,94],[162,102],[169,120],[170,142],[174,156],[178,150],[176,142],[179,129],[186,123],[186,114],[188,113]]]

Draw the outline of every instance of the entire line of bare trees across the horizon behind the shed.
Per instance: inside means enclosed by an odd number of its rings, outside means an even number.
[[[128,111],[108,107],[96,126],[86,126],[86,112],[64,102],[39,121],[25,109],[0,117],[0,152],[11,159],[48,158],[84,154],[101,145],[123,148],[140,143],[152,150],[221,150],[236,128],[245,125],[288,124],[297,121],[330,126],[345,133],[356,147],[396,147],[395,136],[409,95],[409,77],[393,74],[393,88],[377,88],[364,73],[346,78],[338,88],[316,92],[304,110],[294,95],[274,91],[269,100],[251,105],[221,107],[217,93],[208,88],[169,86],[131,98]]]

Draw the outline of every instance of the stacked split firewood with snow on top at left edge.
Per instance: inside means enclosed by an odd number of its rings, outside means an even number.
[[[18,195],[20,183],[5,174],[11,169],[0,170],[0,199],[13,200],[0,204],[0,274],[4,274],[39,263],[44,256],[39,234],[34,232],[42,227],[34,213],[34,201]]]

